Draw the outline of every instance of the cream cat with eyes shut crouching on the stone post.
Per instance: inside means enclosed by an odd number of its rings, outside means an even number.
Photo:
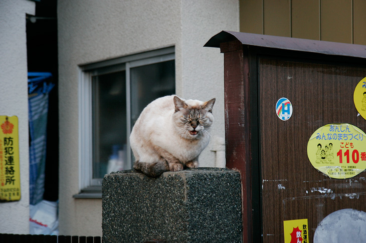
[[[199,167],[209,144],[215,98],[207,102],[164,96],[148,104],[130,135],[133,168],[157,177],[165,171]]]

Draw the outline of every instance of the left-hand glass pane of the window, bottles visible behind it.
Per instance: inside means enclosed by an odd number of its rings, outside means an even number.
[[[92,77],[93,178],[130,169],[126,156],[126,72]]]

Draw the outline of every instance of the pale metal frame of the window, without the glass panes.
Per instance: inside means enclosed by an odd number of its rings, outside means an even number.
[[[79,188],[75,198],[101,198],[102,179],[92,178],[93,124],[92,76],[126,71],[127,148],[131,131],[130,69],[149,64],[175,60],[174,47],[138,53],[111,60],[79,66]],[[131,149],[127,149],[128,162],[132,164]]]

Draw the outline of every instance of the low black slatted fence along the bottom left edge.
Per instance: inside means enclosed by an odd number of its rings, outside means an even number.
[[[101,243],[100,236],[0,234],[1,243]]]

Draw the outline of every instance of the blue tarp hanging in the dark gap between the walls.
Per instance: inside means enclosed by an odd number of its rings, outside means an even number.
[[[28,73],[29,90],[29,189],[30,203],[43,199],[46,164],[48,97],[54,84],[47,81],[51,73]]]

